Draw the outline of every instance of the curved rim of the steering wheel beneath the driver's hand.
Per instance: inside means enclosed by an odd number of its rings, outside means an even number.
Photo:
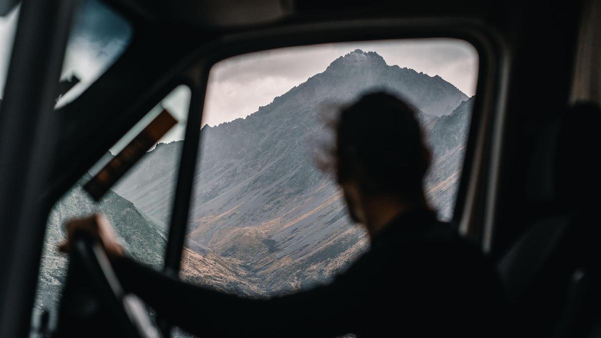
[[[119,327],[124,330],[123,336],[161,337],[160,331],[148,318],[142,302],[134,295],[124,292],[99,239],[85,231],[75,232],[70,251],[71,259],[78,260],[84,267],[100,302],[109,309]]]

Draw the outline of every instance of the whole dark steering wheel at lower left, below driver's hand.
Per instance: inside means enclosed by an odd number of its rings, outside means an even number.
[[[106,336],[107,332],[112,337],[162,336],[144,303],[124,292],[99,240],[78,231],[70,243],[69,272],[56,336]]]

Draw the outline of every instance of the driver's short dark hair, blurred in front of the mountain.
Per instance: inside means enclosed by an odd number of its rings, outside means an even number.
[[[336,134],[339,183],[358,179],[366,194],[423,192],[430,157],[412,106],[385,92],[365,94],[341,109]]]

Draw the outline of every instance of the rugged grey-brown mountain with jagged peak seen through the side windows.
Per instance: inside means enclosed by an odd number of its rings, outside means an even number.
[[[434,154],[427,196],[448,220],[472,99],[439,76],[388,66],[375,52],[356,50],[254,114],[204,126],[200,164],[190,182],[191,257],[213,253],[211,262],[218,258],[236,267],[234,291],[272,295],[326,282],[364,252],[365,233],[347,217],[337,185],[316,168],[314,156],[331,140],[323,107],[370,90],[397,94],[418,109]],[[167,223],[181,146],[159,144],[115,191]],[[185,271],[196,264],[185,260]]]

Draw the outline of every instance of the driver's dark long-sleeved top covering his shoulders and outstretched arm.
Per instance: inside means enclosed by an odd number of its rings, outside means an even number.
[[[174,280],[127,258],[114,263],[126,290],[199,336],[501,335],[492,268],[428,210],[395,218],[331,284],[266,300]]]

